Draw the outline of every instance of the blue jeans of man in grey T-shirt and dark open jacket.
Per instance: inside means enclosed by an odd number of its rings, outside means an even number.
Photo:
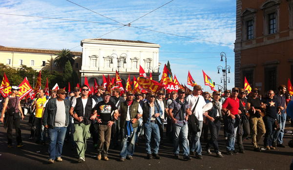
[[[48,128],[48,137],[49,137],[49,158],[53,159],[61,157],[63,143],[65,139],[67,127],[55,127]]]

